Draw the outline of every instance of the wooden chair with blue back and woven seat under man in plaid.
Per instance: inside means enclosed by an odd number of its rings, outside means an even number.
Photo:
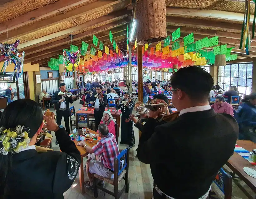
[[[94,174],[93,178],[93,185],[94,185],[94,197],[98,197],[98,188],[102,191],[110,194],[111,196],[114,196],[115,199],[119,199],[122,195],[122,193],[125,192],[128,193],[129,191],[129,148],[126,148],[125,150],[122,150],[120,154],[114,159],[114,178],[104,178],[102,176],[99,176],[97,174]],[[105,181],[106,183],[110,183],[114,186],[114,192],[111,192],[97,184],[97,179]],[[118,183],[121,181],[121,179],[125,180],[125,185],[122,188],[122,190],[118,191]]]

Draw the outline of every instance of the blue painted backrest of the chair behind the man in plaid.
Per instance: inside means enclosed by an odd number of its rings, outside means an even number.
[[[129,167],[129,151],[130,148],[122,150],[120,154],[114,159],[114,178],[115,174],[119,176],[121,172],[127,167]]]

